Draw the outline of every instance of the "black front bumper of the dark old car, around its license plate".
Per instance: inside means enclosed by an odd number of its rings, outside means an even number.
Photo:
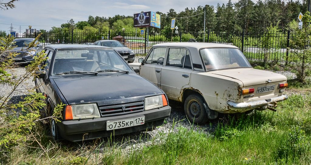
[[[170,106],[164,106],[158,109],[142,111],[127,115],[109,116],[95,119],[68,120],[57,122],[56,124],[60,135],[64,139],[68,141],[82,141],[142,131],[160,126],[163,124],[164,119],[170,115],[170,111]],[[143,115],[145,116],[145,124],[109,131],[106,130],[107,121],[128,119]]]

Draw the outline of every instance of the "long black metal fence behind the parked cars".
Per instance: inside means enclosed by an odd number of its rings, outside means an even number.
[[[7,34],[8,35],[8,34]],[[16,38],[34,38],[37,34],[26,34]],[[4,37],[4,35],[2,35]],[[165,42],[211,42],[234,45],[239,47],[247,59],[264,62],[285,62],[292,59],[293,52],[298,52],[290,44],[296,34],[287,33],[128,33],[110,31],[107,33],[84,33],[71,31],[67,33],[43,33],[39,41],[45,46],[50,44],[82,44],[94,43],[99,40],[118,40],[132,49],[135,54],[146,54],[151,47]],[[290,49],[287,49],[290,48]],[[295,62],[299,63],[299,62]]]

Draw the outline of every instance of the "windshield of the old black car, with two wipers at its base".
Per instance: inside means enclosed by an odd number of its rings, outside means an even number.
[[[132,71],[114,50],[71,49],[56,52],[52,74],[72,71],[96,72],[107,69]]]

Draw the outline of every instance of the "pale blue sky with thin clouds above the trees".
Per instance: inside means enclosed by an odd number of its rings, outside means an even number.
[[[8,2],[4,0],[3,2]],[[237,2],[238,0],[232,0]],[[160,11],[166,13],[173,8],[177,13],[186,7],[214,5],[227,3],[228,0],[19,0],[14,3],[16,8],[0,10],[0,30],[10,31],[10,25],[19,33],[25,32],[28,25],[35,29],[51,29],[60,26],[67,20],[87,21],[88,16],[112,17],[114,15],[133,15],[141,11]]]

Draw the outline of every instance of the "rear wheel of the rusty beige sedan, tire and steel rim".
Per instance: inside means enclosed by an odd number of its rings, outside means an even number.
[[[184,111],[191,123],[204,124],[208,121],[204,100],[198,94],[189,95],[184,102]]]

